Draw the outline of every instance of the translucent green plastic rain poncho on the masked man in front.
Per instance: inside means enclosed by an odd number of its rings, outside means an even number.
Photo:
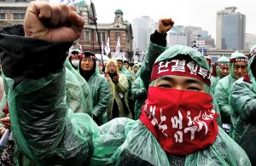
[[[26,38],[20,33],[0,34],[0,37],[3,39],[0,44],[3,64],[8,60],[28,60],[35,57],[36,53],[39,60],[42,56],[47,58],[47,61],[40,60],[42,66],[24,75],[24,79],[21,80],[17,79],[18,75],[12,75],[8,66],[3,70],[3,73],[9,76],[4,79],[9,87],[9,111],[15,145],[24,154],[23,159],[28,157],[38,165],[170,165],[166,152],[139,120],[120,117],[98,127],[88,114],[73,113],[68,108],[65,95],[66,68],[63,64],[66,59],[65,52],[72,43]],[[9,48],[10,43],[17,43],[14,47],[17,49]],[[33,49],[26,49],[27,47]],[[145,76],[143,73],[151,71],[153,57],[158,57],[163,52],[158,60],[170,59],[181,52],[192,53],[192,58],[207,68],[207,61],[201,54],[183,48],[177,46],[164,52],[165,47],[149,43],[143,62],[145,71],[142,71],[142,78]],[[15,57],[18,50],[23,51],[17,60]],[[55,66],[62,67],[40,73],[46,64],[51,63],[51,58],[59,58]],[[32,67],[31,63],[26,65],[28,69]],[[17,72],[16,66],[12,69]],[[34,78],[33,73],[38,73],[38,77]],[[219,129],[215,142],[203,151],[186,156],[185,165],[250,163],[241,147]]]

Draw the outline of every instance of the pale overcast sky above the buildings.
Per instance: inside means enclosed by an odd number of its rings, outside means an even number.
[[[90,4],[89,0],[85,0]],[[132,26],[132,20],[143,15],[155,22],[172,17],[175,26],[199,26],[216,38],[217,11],[236,6],[236,12],[246,15],[246,33],[256,34],[255,0],[91,0],[96,8],[97,23],[113,23],[114,11],[121,9],[124,20]]]

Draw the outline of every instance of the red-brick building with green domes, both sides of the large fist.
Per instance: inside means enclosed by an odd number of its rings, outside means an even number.
[[[0,27],[23,24],[28,3],[32,0],[1,0],[0,1]],[[81,36],[73,43],[73,49],[90,50],[102,53],[101,43],[106,45],[109,37],[109,57],[115,53],[117,40],[120,41],[121,56],[131,60],[133,55],[133,34],[131,24],[123,20],[123,12],[117,9],[114,12],[114,21],[110,24],[96,23],[94,6],[84,4],[77,7],[77,12],[84,18],[85,24]],[[104,53],[105,54],[105,53]]]

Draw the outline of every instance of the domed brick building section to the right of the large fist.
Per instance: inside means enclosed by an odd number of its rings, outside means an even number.
[[[75,47],[82,47],[83,50],[90,50],[94,53],[101,54],[101,43],[106,45],[109,38],[110,53],[108,57],[124,57],[131,60],[133,55],[133,33],[131,24],[123,18],[121,9],[114,12],[114,21],[111,24],[96,23],[96,12],[93,6],[84,4],[82,8],[78,8],[79,13],[85,20],[84,30],[81,37],[76,42]],[[115,54],[115,49],[120,41],[120,52]],[[105,53],[104,53],[105,54]]]

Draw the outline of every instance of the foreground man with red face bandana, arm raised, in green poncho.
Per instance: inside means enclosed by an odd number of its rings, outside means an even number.
[[[30,165],[250,165],[241,147],[218,128],[205,57],[189,47],[166,48],[166,32],[173,24],[161,19],[150,37],[140,75],[148,89],[140,119],[117,117],[98,127],[86,113],[71,112],[65,102],[63,63],[84,20],[72,6],[30,3],[21,32],[5,27],[0,33],[19,158],[32,161]],[[19,59],[8,47],[13,41],[20,41],[15,45]],[[19,66],[23,75],[15,66],[20,63],[8,63],[29,60],[35,52],[47,60],[28,72],[32,63]],[[59,60],[49,67],[54,58]]]

